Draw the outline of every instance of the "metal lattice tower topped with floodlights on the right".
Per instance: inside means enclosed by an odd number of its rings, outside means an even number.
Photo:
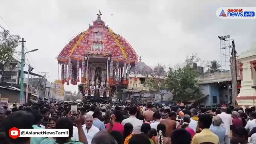
[[[221,71],[227,72],[230,70],[230,58],[231,58],[231,49],[232,41],[230,36],[218,36],[220,39],[220,65]]]

